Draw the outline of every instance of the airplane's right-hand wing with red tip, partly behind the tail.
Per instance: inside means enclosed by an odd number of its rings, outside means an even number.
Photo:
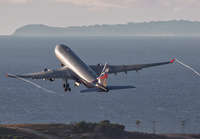
[[[136,64],[136,65],[109,65],[109,74],[111,73],[118,73],[118,72],[127,72],[127,71],[138,71],[142,70],[143,68],[148,67],[154,67],[154,66],[160,66],[165,64],[173,63],[175,58],[168,62],[160,62],[160,63],[150,63],[150,64]],[[97,73],[97,75],[101,74],[101,71],[103,69],[103,65],[91,65],[90,68]]]

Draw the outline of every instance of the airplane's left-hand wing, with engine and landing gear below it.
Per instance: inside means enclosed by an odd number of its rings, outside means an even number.
[[[62,67],[55,70],[37,72],[37,73],[29,73],[23,75],[13,75],[10,73],[6,73],[8,77],[20,77],[20,78],[32,78],[32,79],[49,79],[49,78],[61,78],[61,79],[72,79],[72,75],[67,67]]]

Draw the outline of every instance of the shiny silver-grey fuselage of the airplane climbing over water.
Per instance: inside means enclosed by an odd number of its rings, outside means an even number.
[[[79,83],[86,87],[95,87],[97,83],[97,74],[85,64],[68,46],[59,44],[55,48],[55,55],[58,60],[71,71],[71,74]]]

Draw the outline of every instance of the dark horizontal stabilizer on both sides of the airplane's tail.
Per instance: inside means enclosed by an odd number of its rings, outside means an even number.
[[[135,87],[134,86],[107,86],[107,88],[108,90],[120,90],[120,89],[131,89]],[[87,93],[87,92],[105,92],[105,91],[98,87],[81,90],[81,93]]]

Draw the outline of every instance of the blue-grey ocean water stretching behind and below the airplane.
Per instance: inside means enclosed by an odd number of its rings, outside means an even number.
[[[199,37],[17,37],[0,36],[0,124],[86,121],[125,125],[127,131],[200,133],[200,77],[173,64],[108,76],[108,85],[135,88],[80,93],[84,86],[64,92],[63,81],[29,79],[43,88],[5,73],[25,74],[60,68],[57,44],[69,46],[85,63],[145,64],[177,58],[200,72]]]

